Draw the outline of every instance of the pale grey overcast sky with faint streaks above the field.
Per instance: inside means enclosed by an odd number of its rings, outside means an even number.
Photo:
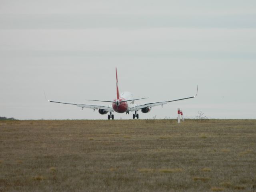
[[[196,94],[140,118],[256,118],[255,0],[1,0],[0,116],[106,119],[88,103]],[[130,119],[132,114],[115,114]]]

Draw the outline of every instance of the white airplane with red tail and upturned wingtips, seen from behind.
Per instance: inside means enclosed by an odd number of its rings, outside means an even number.
[[[98,110],[98,112],[102,115],[108,114],[108,119],[110,118],[113,120],[114,119],[114,114],[113,112],[117,113],[126,113],[129,114],[129,112],[134,112],[132,114],[132,118],[139,118],[139,114],[137,113],[139,110],[142,113],[148,113],[151,111],[151,108],[154,106],[163,106],[164,104],[167,104],[169,102],[174,102],[174,101],[180,101],[180,100],[185,100],[185,99],[190,99],[194,98],[197,96],[198,93],[198,86],[196,89],[196,95],[187,97],[187,98],[181,98],[181,99],[176,99],[176,100],[168,100],[168,101],[163,101],[163,102],[154,102],[154,103],[145,103],[145,104],[134,104],[135,100],[141,100],[141,99],[146,99],[146,98],[139,98],[139,99],[134,99],[134,96],[130,92],[122,92],[121,94],[119,93],[119,88],[118,88],[118,78],[117,78],[117,69],[116,69],[116,98],[112,101],[106,101],[106,100],[88,100],[88,101],[97,101],[97,102],[109,102],[112,103],[110,105],[90,105],[90,104],[76,104],[76,103],[66,103],[66,102],[59,102],[59,101],[51,101],[48,100],[48,102],[54,102],[54,103],[60,103],[60,104],[69,104],[69,105],[76,105],[78,107],[81,107],[82,110],[84,108],[91,108],[94,111]],[[44,96],[46,98],[46,95],[44,93]],[[47,100],[47,99],[46,99]]]

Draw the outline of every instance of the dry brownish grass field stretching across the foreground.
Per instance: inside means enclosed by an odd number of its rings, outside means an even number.
[[[0,121],[0,191],[256,191],[256,120]]]

